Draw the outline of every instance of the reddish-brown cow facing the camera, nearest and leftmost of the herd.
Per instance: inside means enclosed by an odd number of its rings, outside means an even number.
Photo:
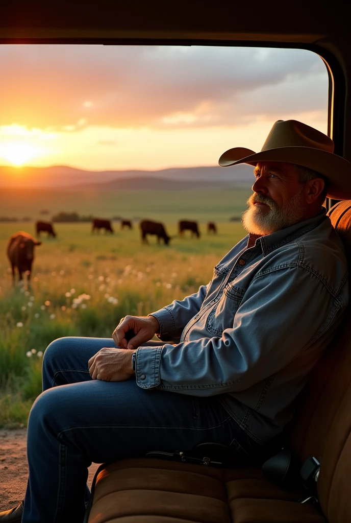
[[[10,237],[7,246],[7,256],[12,268],[13,283],[15,283],[15,267],[19,274],[19,281],[22,280],[22,273],[28,271],[28,282],[34,259],[34,245],[41,245],[28,232],[19,231]]]

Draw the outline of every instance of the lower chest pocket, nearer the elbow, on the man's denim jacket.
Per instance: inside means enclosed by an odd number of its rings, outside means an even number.
[[[226,328],[233,328],[234,316],[244,294],[244,289],[230,284],[227,285],[220,299],[207,316],[207,331],[220,337]]]

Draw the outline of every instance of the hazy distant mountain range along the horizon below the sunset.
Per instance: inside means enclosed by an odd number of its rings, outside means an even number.
[[[0,166],[0,187],[71,188],[73,190],[180,190],[250,186],[250,165],[223,168],[174,167],[160,170],[76,169],[65,165],[51,167]]]

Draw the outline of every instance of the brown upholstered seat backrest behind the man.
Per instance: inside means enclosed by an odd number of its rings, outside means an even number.
[[[350,267],[351,201],[328,214]],[[299,397],[287,437],[301,462],[320,459],[319,497],[330,523],[351,521],[351,304]]]

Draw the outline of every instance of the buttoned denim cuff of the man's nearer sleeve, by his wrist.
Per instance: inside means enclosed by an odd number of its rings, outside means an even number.
[[[142,389],[152,389],[160,384],[161,351],[162,347],[139,347],[136,350],[135,378]]]

